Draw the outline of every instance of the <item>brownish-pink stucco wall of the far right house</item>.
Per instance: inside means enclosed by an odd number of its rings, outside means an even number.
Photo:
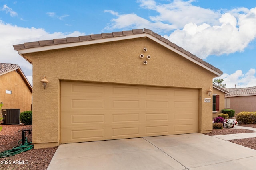
[[[235,110],[235,113],[242,111],[256,111],[256,96],[238,96],[229,97],[230,109]]]

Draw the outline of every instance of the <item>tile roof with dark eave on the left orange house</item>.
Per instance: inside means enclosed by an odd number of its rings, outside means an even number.
[[[26,83],[26,85],[28,86],[30,91],[32,92],[32,86],[29,83],[28,79],[26,78],[26,76],[24,75],[24,73],[22,72],[22,70],[18,64],[0,63],[0,76],[2,76],[3,74],[7,74],[8,72],[12,72],[12,71],[16,71],[20,74],[20,76],[22,77],[22,79],[24,80],[24,82]]]

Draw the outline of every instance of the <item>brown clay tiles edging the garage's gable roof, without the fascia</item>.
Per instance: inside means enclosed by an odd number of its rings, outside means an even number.
[[[79,36],[79,37],[69,37],[69,38],[61,38],[61,39],[53,39],[53,40],[44,40],[44,41],[38,41],[38,42],[30,42],[30,43],[24,43],[24,44],[18,44],[13,45],[14,50],[24,50],[24,49],[30,49],[34,47],[45,47],[49,45],[58,45],[58,44],[68,44],[68,43],[78,43],[83,41],[95,41],[97,39],[111,39],[114,37],[125,37],[129,35],[138,35],[138,34],[149,34],[153,37],[157,38],[158,40],[162,41],[163,43],[170,45],[170,47],[173,47],[174,49],[182,52],[187,57],[191,57],[191,59],[201,63],[202,65],[210,68],[210,70],[213,70],[215,72],[218,72],[218,74],[223,74],[223,72],[210,65],[206,61],[203,61],[202,59],[196,57],[196,55],[191,54],[189,51],[184,50],[182,47],[179,47],[178,45],[170,42],[168,39],[162,37],[161,35],[154,33],[150,29],[133,29],[130,31],[122,31],[122,32],[112,32],[112,33],[102,33],[102,34],[92,34],[92,35],[86,35],[86,36]]]

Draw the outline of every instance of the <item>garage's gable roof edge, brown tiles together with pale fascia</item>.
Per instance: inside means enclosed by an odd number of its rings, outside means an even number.
[[[67,47],[76,47],[82,45],[90,45],[97,43],[105,43],[111,41],[120,41],[125,39],[134,39],[140,37],[147,37],[156,41],[157,43],[167,47],[168,49],[178,53],[179,55],[185,57],[186,59],[206,68],[207,70],[215,73],[220,76],[223,72],[214,67],[213,65],[203,61],[202,59],[196,57],[196,55],[191,54],[189,51],[184,50],[182,47],[170,42],[168,39],[154,33],[150,29],[133,29],[130,31],[120,31],[120,32],[112,32],[112,33],[102,33],[102,34],[92,34],[85,35],[79,37],[69,37],[69,38],[61,38],[61,39],[52,39],[52,40],[43,40],[36,42],[28,42],[18,45],[13,45],[14,49],[18,51],[18,53],[24,57],[28,62],[32,63],[29,59],[24,56],[26,53],[34,53],[39,51],[47,51],[53,49],[61,49]]]

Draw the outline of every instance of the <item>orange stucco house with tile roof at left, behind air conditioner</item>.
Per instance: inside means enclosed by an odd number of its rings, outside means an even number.
[[[0,102],[2,110],[31,110],[32,86],[17,64],[0,63]]]

